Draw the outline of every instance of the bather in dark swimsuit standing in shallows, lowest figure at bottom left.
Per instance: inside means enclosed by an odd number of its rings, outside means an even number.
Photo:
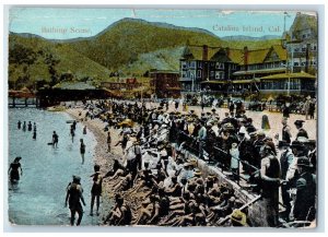
[[[83,205],[85,205],[85,202],[82,193],[83,193],[83,189],[81,186],[81,178],[79,176],[73,176],[73,182],[69,183],[67,188],[66,200],[65,200],[65,206],[67,206],[67,202],[69,202],[72,226],[74,225],[77,212],[79,214],[77,226],[81,224],[83,217],[83,209],[80,201],[82,201]]]

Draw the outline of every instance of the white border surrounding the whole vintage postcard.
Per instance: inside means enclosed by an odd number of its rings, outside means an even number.
[[[226,3],[227,1],[224,1],[224,3]],[[4,4],[26,4],[26,3],[32,3],[32,4],[37,4],[37,5],[44,5],[44,4],[51,4],[55,7],[55,4],[75,4],[75,1],[72,0],[57,0],[56,2],[47,2],[45,3],[42,0],[34,0],[34,1],[19,1],[19,0],[14,0],[14,1],[8,1],[4,0]],[[98,1],[98,0],[93,0],[91,1],[85,1],[85,0],[80,0],[78,2],[79,4],[108,4],[108,2],[106,1]],[[325,118],[326,118],[326,112],[327,109],[325,109],[325,102],[326,102],[326,92],[327,91],[327,83],[324,82],[325,80],[325,55],[327,55],[327,47],[325,47],[325,43],[327,43],[327,38],[325,38],[325,10],[327,10],[327,4],[324,0],[312,0],[312,1],[302,1],[302,0],[289,0],[288,3],[289,4],[284,4],[286,3],[286,1],[283,0],[276,0],[276,1],[243,1],[243,0],[231,0],[229,1],[230,5],[226,4],[220,4],[222,2],[219,1],[213,1],[213,0],[201,0],[201,1],[195,1],[195,0],[188,0],[188,1],[179,1],[179,0],[160,0],[156,1],[156,5],[154,4],[154,0],[151,1],[144,1],[144,0],[140,0],[140,1],[136,1],[136,0],[119,0],[119,1],[115,1],[114,2],[115,8],[148,8],[148,9],[154,9],[154,8],[178,8],[178,9],[234,9],[234,10],[301,10],[301,11],[317,11],[319,14],[319,83],[318,83],[318,93],[319,93],[319,122],[318,122],[318,140],[319,140],[319,157],[320,161],[325,159],[325,133],[326,131],[326,127],[325,127]],[[188,4],[185,4],[188,3]],[[277,5],[278,3],[278,5]],[[147,5],[137,5],[137,4],[147,4]],[[159,5],[160,4],[160,5]],[[164,5],[165,4],[165,5]],[[178,5],[176,5],[178,4]],[[211,4],[211,5],[204,5],[204,4]],[[237,4],[237,5],[234,5]],[[296,5],[292,5],[292,4],[296,4]],[[314,5],[314,4],[321,4],[321,5]],[[2,8],[4,5],[1,5]],[[79,5],[72,5],[72,7],[79,7]],[[85,7],[99,7],[101,5],[85,5]],[[5,7],[7,8],[7,7]],[[8,10],[8,9],[7,9]],[[5,11],[7,11],[5,10]],[[8,11],[1,11],[1,14],[8,13]],[[1,17],[3,20],[3,16]],[[3,24],[1,24],[3,26],[2,32],[3,32],[3,37],[1,37],[1,46],[4,47],[0,47],[0,55],[4,56],[4,58],[2,58],[1,60],[5,59],[5,45],[7,45],[7,36],[8,36],[8,31],[7,31],[7,25],[4,24],[7,23],[7,21],[3,22]],[[3,151],[3,163],[7,164],[7,154],[8,154],[8,129],[7,129],[7,125],[8,125],[8,108],[7,108],[7,60],[2,61],[2,63],[0,63],[0,67],[2,69],[3,72],[3,80],[0,83],[0,93],[2,95],[2,103],[0,103],[1,108],[0,108],[0,130],[3,131],[3,135],[0,139],[0,151]],[[325,227],[324,227],[324,223],[325,223],[325,213],[327,212],[327,208],[325,206],[325,197],[327,197],[327,188],[325,189],[325,170],[327,170],[327,162],[325,162],[325,166],[323,163],[320,163],[319,166],[319,193],[318,195],[319,198],[319,205],[320,209],[318,210],[319,212],[319,218],[318,218],[318,228],[315,229],[315,232],[317,233],[316,235],[323,235],[325,232]],[[4,169],[4,170],[3,170]],[[0,181],[2,183],[3,182],[3,177],[7,174],[7,165],[4,165],[2,171],[4,171],[4,174],[2,174],[0,176]],[[5,190],[5,186],[3,186],[4,190]],[[324,193],[325,191],[325,193]],[[2,203],[5,204],[7,203],[7,197],[4,197],[3,194],[4,192],[1,192],[1,200]],[[1,211],[3,214],[5,214],[3,211],[5,211],[7,209],[3,209],[4,206],[1,203]],[[325,208],[325,209],[324,209]],[[7,212],[7,211],[5,211]],[[2,217],[7,217],[7,215],[3,215]],[[34,232],[38,232],[38,234],[33,234],[33,236],[37,236],[40,235],[40,232],[59,232],[59,233],[70,233],[69,235],[71,235],[74,232],[79,232],[79,236],[83,236],[83,235],[90,235],[90,233],[97,233],[97,235],[103,235],[104,233],[107,232],[128,232],[128,233],[142,233],[142,232],[147,232],[149,234],[149,232],[156,232],[156,234],[150,234],[150,235],[161,235],[161,233],[159,232],[165,232],[164,235],[167,236],[171,235],[171,233],[187,233],[188,236],[191,235],[197,235],[199,236],[200,233],[204,232],[207,233],[207,235],[211,234],[211,233],[238,233],[238,235],[241,235],[242,233],[243,236],[244,235],[249,235],[250,233],[251,236],[253,235],[261,235],[261,233],[266,233],[270,234],[270,233],[289,233],[290,235],[300,235],[301,233],[308,233],[307,230],[300,230],[297,229],[296,232],[293,229],[263,229],[263,228],[243,228],[243,229],[235,229],[235,228],[211,228],[211,227],[204,227],[204,228],[167,228],[167,227],[129,227],[129,228],[121,228],[121,227],[113,227],[113,228],[99,228],[99,227],[81,227],[81,228],[66,228],[66,227],[11,227],[11,226],[5,226],[5,220],[3,220],[4,222],[1,222],[1,226],[2,223],[4,224],[4,232],[5,234],[8,234],[7,232],[15,232],[15,234],[10,234],[10,235],[19,235],[21,236],[22,232],[23,233],[30,233],[28,235],[31,235],[31,233]],[[327,222],[326,222],[327,223]],[[19,232],[19,233],[17,233]],[[190,233],[192,232],[192,233]],[[312,230],[313,232],[313,230]],[[320,232],[318,234],[318,232]],[[44,235],[44,234],[42,234]],[[49,235],[49,233],[47,234]],[[56,233],[50,234],[50,235],[56,235]],[[108,235],[108,234],[106,234]],[[109,234],[112,235],[112,234]],[[271,234],[272,235],[272,234]],[[312,233],[313,235],[313,233]],[[142,234],[142,236],[144,236],[144,234]]]

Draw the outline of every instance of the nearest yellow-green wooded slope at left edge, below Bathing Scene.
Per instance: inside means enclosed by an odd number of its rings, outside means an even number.
[[[58,79],[85,80],[108,78],[110,71],[65,44],[55,44],[33,35],[9,36],[10,87],[31,86],[38,81]],[[70,76],[73,75],[73,76]]]

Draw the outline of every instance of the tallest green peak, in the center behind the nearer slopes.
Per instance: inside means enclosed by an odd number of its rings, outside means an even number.
[[[77,51],[113,70],[133,63],[140,54],[190,44],[221,45],[213,34],[163,23],[124,19],[85,40],[68,43]]]

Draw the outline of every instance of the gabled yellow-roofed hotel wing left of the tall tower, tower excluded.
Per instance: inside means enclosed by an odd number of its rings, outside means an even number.
[[[259,79],[285,72],[285,63],[286,50],[279,45],[258,50],[186,46],[180,59],[181,90],[259,91]]]

